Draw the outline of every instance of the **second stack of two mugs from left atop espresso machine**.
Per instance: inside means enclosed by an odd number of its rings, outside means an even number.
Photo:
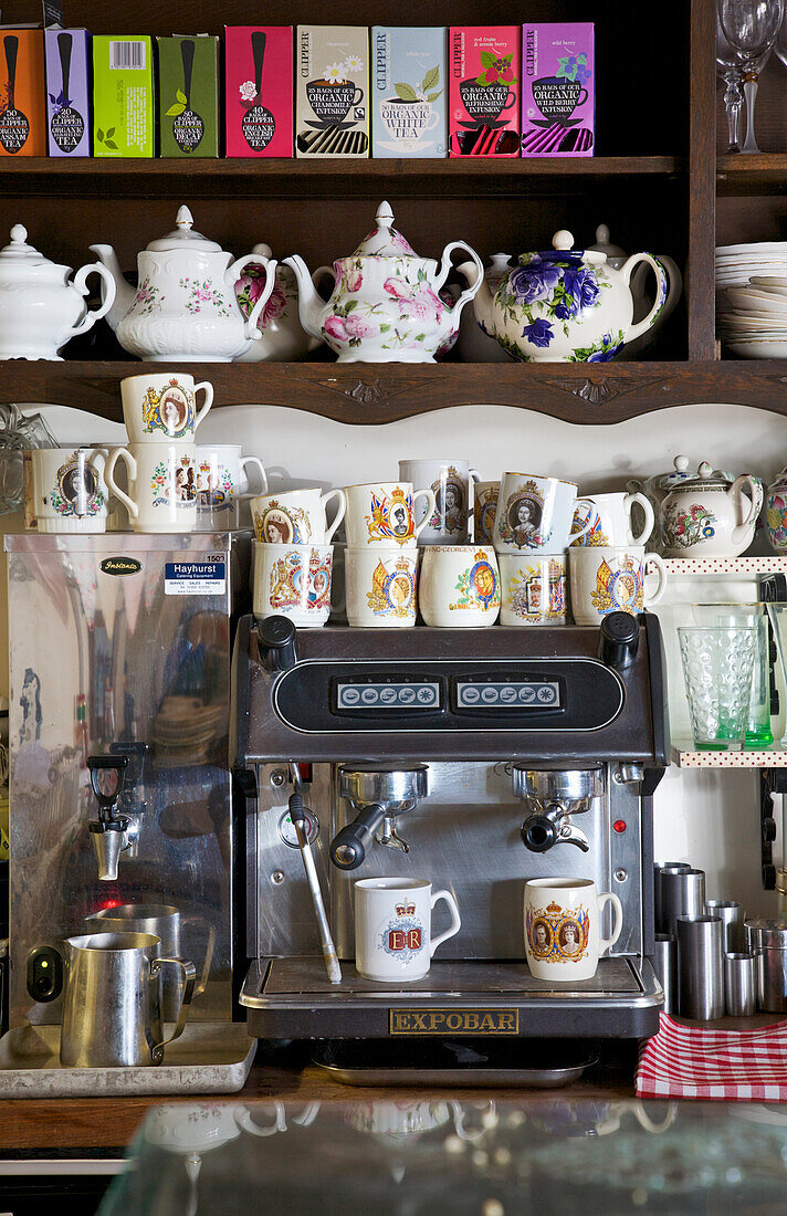
[[[434,512],[434,490],[411,482],[348,485],[344,531],[347,620],[353,626],[403,629],[418,607],[418,536]],[[420,524],[415,506],[426,499]]]

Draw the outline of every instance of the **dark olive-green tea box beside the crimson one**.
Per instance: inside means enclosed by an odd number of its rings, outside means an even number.
[[[219,154],[219,39],[157,38],[159,156]]]

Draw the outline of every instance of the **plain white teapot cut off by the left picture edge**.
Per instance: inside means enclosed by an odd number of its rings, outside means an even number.
[[[50,261],[27,243],[27,229],[15,224],[11,243],[0,250],[0,359],[60,359],[57,351],[112,308],[114,282],[94,261],[71,280],[71,266]],[[101,276],[103,302],[85,306],[89,275]]]

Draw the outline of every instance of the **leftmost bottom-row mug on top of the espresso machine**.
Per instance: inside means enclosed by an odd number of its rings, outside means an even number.
[[[262,545],[254,541],[255,617],[288,617],[316,629],[331,615],[332,545]]]

